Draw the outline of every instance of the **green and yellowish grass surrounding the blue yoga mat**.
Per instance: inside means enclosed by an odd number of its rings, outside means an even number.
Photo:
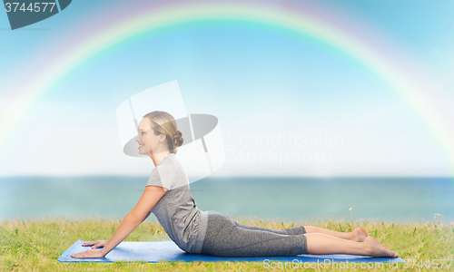
[[[266,228],[292,228],[298,224],[285,223],[278,220],[262,221],[259,219],[242,220],[246,225]],[[84,219],[70,220],[62,217],[41,220],[14,220],[0,222],[0,271],[257,271],[265,269],[262,262],[115,262],[115,263],[61,263],[57,258],[74,244],[78,239],[97,240],[108,239],[120,225],[119,219]],[[452,259],[454,257],[454,223],[408,223],[389,224],[380,221],[350,222],[319,220],[305,222],[320,228],[337,231],[351,231],[354,228],[364,228],[370,236],[377,238],[386,247],[397,251],[400,257],[417,259],[426,262],[428,259]],[[169,239],[159,223],[143,222],[125,241],[159,241]],[[385,270],[413,270],[390,268],[385,264]],[[300,270],[301,268],[286,269]],[[423,267],[419,271],[435,268]],[[440,271],[454,269],[437,268]],[[274,269],[282,270],[282,269]],[[302,270],[302,269],[301,269]],[[311,270],[311,269],[310,269]],[[332,271],[331,268],[315,268],[312,270]],[[382,271],[383,268],[350,268],[349,271],[367,270]],[[345,269],[334,269],[345,271]]]

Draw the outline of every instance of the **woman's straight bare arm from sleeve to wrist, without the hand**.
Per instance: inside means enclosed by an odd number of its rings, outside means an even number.
[[[115,230],[114,235],[104,246],[103,254],[107,255],[112,249],[120,244],[146,217],[150,215],[150,209],[163,197],[165,191],[163,187],[147,186],[137,205],[124,217],[120,226]]]

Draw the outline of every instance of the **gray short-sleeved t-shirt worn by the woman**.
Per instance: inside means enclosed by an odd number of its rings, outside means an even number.
[[[208,224],[208,211],[198,209],[192,198],[183,166],[171,153],[154,168],[146,186],[167,189],[151,212],[165,233],[188,253],[201,253]]]

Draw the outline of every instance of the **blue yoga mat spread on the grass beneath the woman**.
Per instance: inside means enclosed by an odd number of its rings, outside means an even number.
[[[114,262],[117,260],[123,261],[147,261],[150,263],[157,263],[159,260],[166,261],[202,261],[202,262],[215,262],[215,261],[249,261],[257,262],[268,260],[277,261],[294,261],[298,262],[324,262],[330,260],[331,262],[404,262],[400,257],[364,257],[355,255],[298,255],[296,257],[216,257],[205,254],[190,254],[184,252],[182,249],[173,243],[172,240],[161,242],[121,242],[116,248],[109,252],[105,257],[99,258],[75,258],[71,257],[74,253],[79,253],[92,247],[82,247],[84,241],[78,240],[71,248],[68,248],[64,254],[58,258],[61,262]]]

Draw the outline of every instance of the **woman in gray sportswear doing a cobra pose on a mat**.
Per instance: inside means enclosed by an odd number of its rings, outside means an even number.
[[[362,228],[349,233],[311,226],[271,229],[242,225],[217,211],[196,207],[177,147],[182,133],[168,112],[150,112],[139,123],[139,153],[156,166],[137,205],[108,240],[86,242],[93,246],[72,257],[104,257],[152,212],[173,242],[187,253],[221,257],[273,257],[299,254],[352,254],[398,257]],[[104,247],[104,248],[103,248]]]

